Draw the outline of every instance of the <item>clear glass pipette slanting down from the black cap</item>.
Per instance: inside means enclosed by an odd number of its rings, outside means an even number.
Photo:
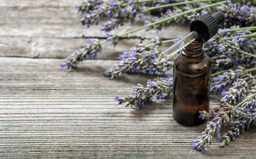
[[[177,52],[185,48],[187,45],[192,43],[196,38],[198,38],[198,32],[192,31],[186,37],[183,37],[180,41],[173,44],[171,47],[167,48],[166,51],[163,51],[158,57],[153,60],[153,63],[157,65],[160,62],[165,62],[170,57],[175,55]]]

